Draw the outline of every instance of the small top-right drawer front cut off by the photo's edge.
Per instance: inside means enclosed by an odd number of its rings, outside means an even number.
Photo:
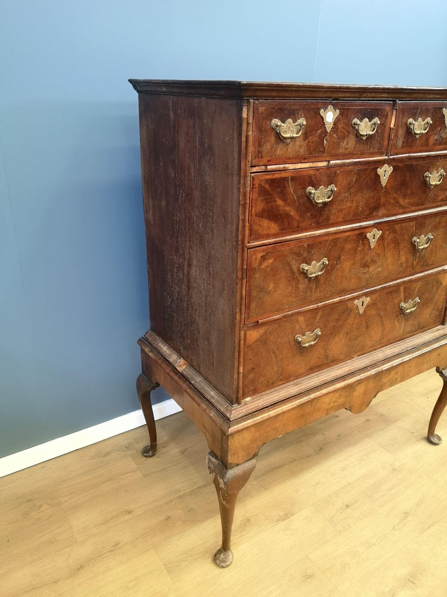
[[[447,150],[447,101],[399,101],[391,153]]]

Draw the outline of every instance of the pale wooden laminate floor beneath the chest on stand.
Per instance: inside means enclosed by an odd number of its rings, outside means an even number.
[[[434,370],[263,447],[241,492],[234,563],[206,442],[184,413],[0,479],[2,597],[447,595],[444,445],[424,439]]]

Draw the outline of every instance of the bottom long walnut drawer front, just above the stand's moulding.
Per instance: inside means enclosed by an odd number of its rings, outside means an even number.
[[[247,328],[244,398],[441,325],[446,295],[447,274],[427,275],[368,294],[361,314],[350,297]]]

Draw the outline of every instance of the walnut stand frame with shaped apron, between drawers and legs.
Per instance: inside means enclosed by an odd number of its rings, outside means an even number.
[[[365,364],[365,358],[359,357],[353,361],[358,367],[349,370],[347,364],[342,364],[328,370],[327,375],[316,374],[318,382],[313,387],[291,392],[278,404],[265,404],[263,408],[250,411],[246,407],[252,401],[245,401],[245,405],[233,407],[240,411],[240,415],[232,421],[209,409],[201,392],[167,363],[151,344],[142,345],[142,362],[146,374],[166,387],[169,395],[204,433],[210,449],[223,466],[231,469],[255,457],[262,445],[271,439],[341,408],[361,413],[381,390],[430,369],[433,363],[447,367],[445,328],[443,335],[439,331],[430,331],[416,338],[420,338],[416,346],[409,339],[377,351],[375,365]],[[281,395],[281,389],[276,394]]]

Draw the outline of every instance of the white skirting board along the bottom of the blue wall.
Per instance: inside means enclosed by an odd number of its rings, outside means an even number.
[[[169,398],[169,400],[154,404],[153,410],[154,418],[158,420],[170,414],[178,413],[182,409],[172,398]],[[51,458],[67,454],[84,446],[96,444],[96,442],[103,439],[111,438],[113,435],[135,429],[135,427],[144,424],[143,413],[141,410],[137,410],[93,427],[88,427],[88,429],[81,429],[75,433],[70,433],[70,435],[64,435],[63,438],[52,439],[45,442],[45,444],[22,450],[16,454],[11,454],[11,456],[4,456],[0,458],[0,477],[15,473],[17,470],[27,469],[29,466],[51,460]]]

